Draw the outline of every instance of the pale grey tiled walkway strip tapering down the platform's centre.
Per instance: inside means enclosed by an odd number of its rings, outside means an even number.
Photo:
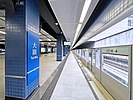
[[[51,100],[95,100],[72,53],[66,61]]]

